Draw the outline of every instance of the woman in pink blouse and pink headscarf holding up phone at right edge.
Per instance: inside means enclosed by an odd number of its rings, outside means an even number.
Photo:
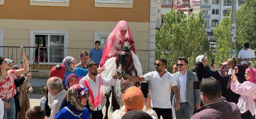
[[[253,115],[255,111],[254,99],[256,98],[256,69],[247,68],[244,76],[247,81],[240,83],[238,77],[232,74],[231,90],[241,95],[237,104],[241,112],[241,118],[255,119]]]

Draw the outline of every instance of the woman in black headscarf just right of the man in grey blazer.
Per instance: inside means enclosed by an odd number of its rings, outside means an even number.
[[[204,68],[204,64],[202,62],[196,62],[192,72],[196,73],[198,81],[202,81],[203,78],[210,78],[211,76]]]

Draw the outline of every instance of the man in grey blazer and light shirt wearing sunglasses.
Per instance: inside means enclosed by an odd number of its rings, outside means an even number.
[[[176,119],[190,119],[194,109],[200,107],[200,90],[193,89],[193,81],[198,81],[196,73],[188,71],[188,59],[178,58],[178,72],[174,73],[180,90],[180,109],[175,112]],[[173,95],[171,95],[173,98]]]

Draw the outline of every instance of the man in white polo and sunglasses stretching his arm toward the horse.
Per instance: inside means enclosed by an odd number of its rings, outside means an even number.
[[[177,99],[174,108],[178,110],[180,108],[179,98],[180,92],[177,87],[176,79],[165,68],[167,61],[164,58],[158,58],[155,63],[156,71],[148,72],[144,76],[130,76],[125,75],[127,79],[131,79],[135,82],[149,81],[151,92],[151,106],[156,111],[158,119],[162,116],[163,119],[172,119],[170,93],[171,88],[174,91]],[[152,108],[147,107],[147,108]]]

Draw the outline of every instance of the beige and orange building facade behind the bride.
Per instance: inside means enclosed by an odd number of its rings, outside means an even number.
[[[49,70],[61,64],[66,56],[73,56],[80,62],[82,50],[89,52],[96,40],[101,41],[100,48],[104,49],[106,38],[117,22],[125,20],[135,40],[143,72],[154,70],[156,21],[155,14],[150,14],[155,12],[154,1],[0,1],[1,56],[18,61],[19,47],[24,46],[26,55],[32,59],[30,66],[36,70]],[[36,64],[38,47],[40,52],[43,49],[47,59]]]

